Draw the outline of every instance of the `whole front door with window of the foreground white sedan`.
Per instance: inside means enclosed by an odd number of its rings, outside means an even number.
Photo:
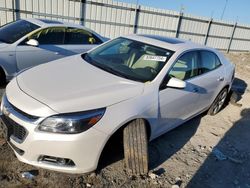
[[[199,54],[196,51],[182,55],[172,66],[166,81],[175,77],[186,81],[186,88],[165,87],[159,91],[158,135],[166,132],[199,112],[200,92],[197,85]]]

